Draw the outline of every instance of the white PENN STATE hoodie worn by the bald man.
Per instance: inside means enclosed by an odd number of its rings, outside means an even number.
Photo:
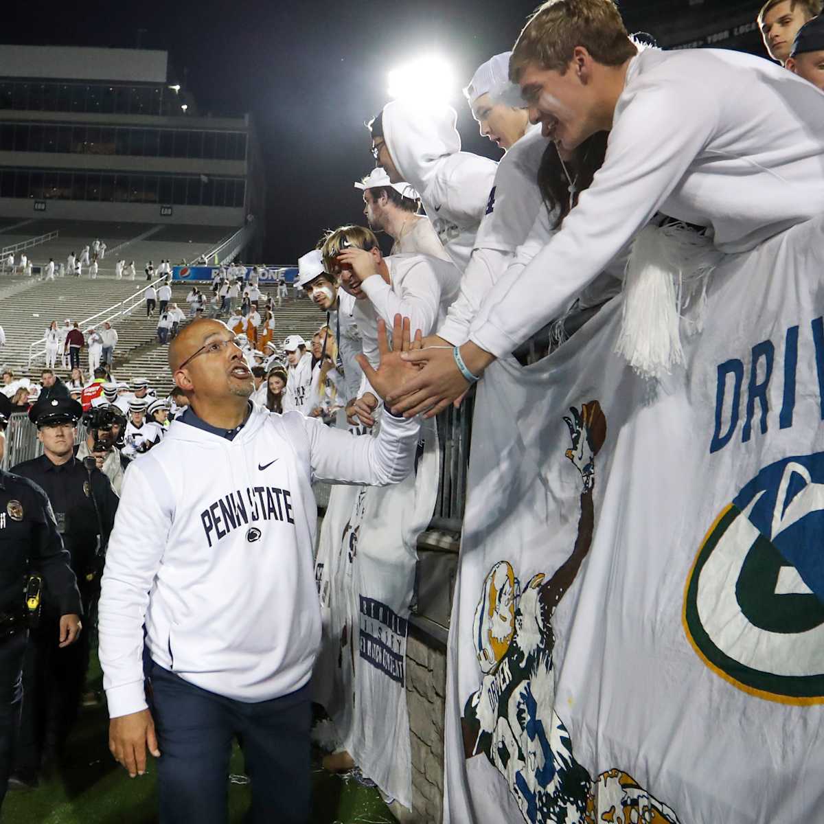
[[[251,407],[231,441],[174,421],[126,471],[100,600],[112,718],[146,708],[144,622],[152,659],[204,690],[253,703],[304,686],[321,640],[311,483],[412,468],[414,419],[384,415],[372,438]]]

